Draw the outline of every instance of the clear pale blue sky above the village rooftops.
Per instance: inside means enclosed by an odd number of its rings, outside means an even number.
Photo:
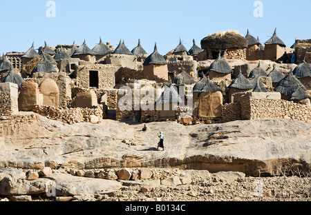
[[[310,0],[262,0],[263,17],[254,17],[255,0],[54,0],[56,17],[46,17],[48,0],[0,0],[0,53],[26,52],[32,41],[35,48],[44,45],[81,45],[89,48],[109,41],[117,46],[120,39],[129,50],[140,39],[142,47],[160,54],[176,48],[179,39],[189,50],[192,39],[200,40],[220,30],[249,32],[264,43],[277,28],[287,46],[294,39],[311,38]]]

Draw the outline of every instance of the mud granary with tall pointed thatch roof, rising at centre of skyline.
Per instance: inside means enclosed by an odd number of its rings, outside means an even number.
[[[154,80],[155,76],[158,76],[160,79],[169,80],[167,61],[158,52],[157,44],[154,45],[153,53],[147,57],[143,65],[144,79]]]

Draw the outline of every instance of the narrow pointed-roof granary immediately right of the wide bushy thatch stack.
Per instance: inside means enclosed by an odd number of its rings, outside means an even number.
[[[249,30],[247,29],[247,34],[245,36],[245,39],[248,41],[248,46],[246,50],[246,59],[247,61],[256,61],[259,59],[263,59],[263,50],[261,50],[261,43],[253,37]]]

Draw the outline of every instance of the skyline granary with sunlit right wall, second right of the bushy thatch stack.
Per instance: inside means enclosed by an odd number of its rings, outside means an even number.
[[[285,53],[286,45],[281,39],[276,35],[276,28],[270,39],[265,42],[265,50],[263,54],[264,60],[274,61],[274,59],[279,59]]]

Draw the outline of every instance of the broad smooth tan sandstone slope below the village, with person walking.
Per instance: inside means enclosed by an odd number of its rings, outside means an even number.
[[[291,119],[191,126],[155,122],[142,132],[140,124],[104,120],[97,125],[66,125],[27,114],[33,113],[3,116],[0,121],[0,168],[42,170],[68,163],[85,172],[94,168],[178,167],[247,176],[311,170],[311,125]],[[159,131],[164,131],[165,151],[156,151]],[[125,137],[140,144],[124,144]],[[131,172],[124,170],[118,177],[129,180]]]

